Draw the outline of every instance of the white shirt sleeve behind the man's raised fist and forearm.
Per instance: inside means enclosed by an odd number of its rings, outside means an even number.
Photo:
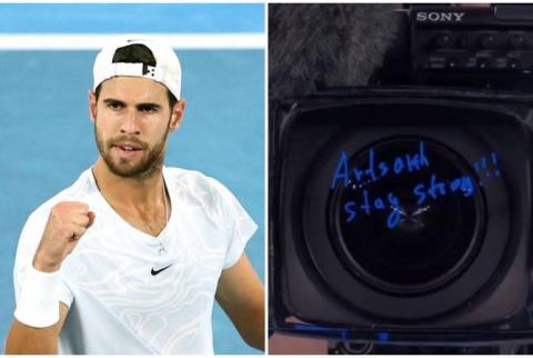
[[[20,233],[13,269],[14,299],[17,302],[19,301],[20,294],[24,287],[28,269],[33,265],[33,257],[39,247],[39,242],[41,241],[42,232],[44,231],[48,221],[48,215],[49,210],[43,212],[38,209],[38,211],[33,212],[28,218],[28,221]],[[61,272],[60,278],[61,280],[58,289],[59,300],[70,307],[73,301],[72,291],[66,284]]]

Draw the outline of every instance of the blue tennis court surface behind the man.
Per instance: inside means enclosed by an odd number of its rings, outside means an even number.
[[[111,10],[118,21],[111,22]],[[1,4],[0,18],[9,21],[0,24],[0,36],[61,31],[262,36],[263,11],[262,4]],[[200,170],[238,197],[260,228],[247,253],[264,281],[264,49],[175,47],[187,109],[182,126],[170,138],[165,165]],[[95,53],[0,51],[2,351],[14,310],[12,267],[20,230],[33,209],[70,186],[98,156],[88,115]],[[242,341],[219,307],[213,329],[217,354],[259,354]]]

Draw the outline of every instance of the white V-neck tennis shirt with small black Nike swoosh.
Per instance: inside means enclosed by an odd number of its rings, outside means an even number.
[[[220,274],[241,257],[257,225],[217,180],[178,168],[163,168],[163,178],[172,212],[157,238],[110,207],[90,169],[29,217],[14,265],[17,299],[50,209],[76,200],[95,213],[61,266],[60,301],[70,310],[60,354],[213,354]]]

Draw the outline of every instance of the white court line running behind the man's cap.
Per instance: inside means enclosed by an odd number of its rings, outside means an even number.
[[[99,50],[125,34],[62,34],[24,33],[0,34],[0,50]],[[127,34],[135,38],[135,34]],[[161,39],[175,49],[264,49],[264,33],[147,33]]]

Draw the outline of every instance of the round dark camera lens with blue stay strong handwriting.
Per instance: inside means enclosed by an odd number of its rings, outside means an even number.
[[[334,247],[351,272],[394,295],[450,284],[482,240],[474,168],[432,140],[392,138],[348,153],[349,185],[328,199]]]

